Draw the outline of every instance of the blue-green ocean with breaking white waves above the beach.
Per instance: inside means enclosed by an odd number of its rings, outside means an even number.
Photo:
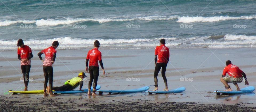
[[[255,0],[9,0],[0,2],[0,49],[256,47]]]

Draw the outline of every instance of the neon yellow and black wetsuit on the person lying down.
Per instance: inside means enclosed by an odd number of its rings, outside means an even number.
[[[60,87],[53,87],[53,90],[55,91],[70,91],[73,90],[75,88],[78,87],[78,85],[80,84],[80,90],[83,87],[83,79],[80,77],[74,77],[70,80],[67,80],[64,85],[60,86]]]

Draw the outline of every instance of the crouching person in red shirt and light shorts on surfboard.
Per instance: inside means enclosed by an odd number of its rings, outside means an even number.
[[[225,88],[227,89],[225,91],[232,91],[232,89],[227,83],[233,83],[235,87],[237,87],[237,91],[240,91],[240,88],[238,87],[237,83],[242,82],[243,78],[245,78],[245,84],[249,85],[246,75],[241,69],[233,65],[230,60],[226,61],[226,65],[227,66],[224,68],[221,77],[221,82],[225,85]],[[230,77],[225,77],[226,73],[229,74]]]

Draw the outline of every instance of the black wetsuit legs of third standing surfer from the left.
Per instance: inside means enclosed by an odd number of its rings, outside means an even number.
[[[88,88],[91,88],[93,82],[93,88],[96,89],[98,77],[99,77],[99,67],[89,66],[90,81]]]

